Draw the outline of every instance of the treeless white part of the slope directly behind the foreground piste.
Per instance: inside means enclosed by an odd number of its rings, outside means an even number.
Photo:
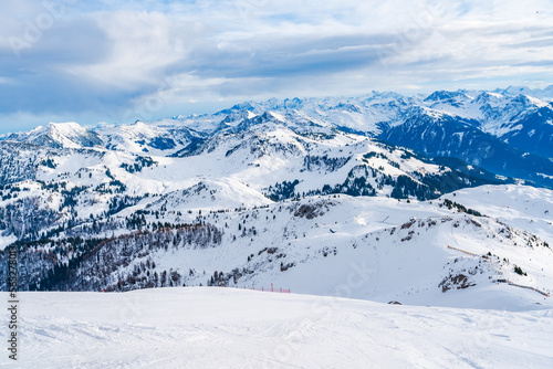
[[[550,291],[553,251],[531,234],[491,219],[458,215],[424,203],[347,197],[273,205],[238,217],[209,213],[200,219],[223,230],[220,245],[201,252],[176,245],[148,256],[158,271],[179,271],[187,285],[206,285],[218,271],[228,285],[239,287],[275,283],[299,293],[344,293],[346,297],[439,306],[553,306],[539,293],[492,283],[508,278]],[[353,265],[366,271],[363,287],[333,289],[347,281]],[[528,275],[517,275],[514,265]],[[186,276],[188,268],[199,273]],[[468,277],[467,284],[474,284],[468,289],[474,296],[491,298],[465,298],[463,288],[458,289],[462,283],[445,292],[440,284],[459,274]]]

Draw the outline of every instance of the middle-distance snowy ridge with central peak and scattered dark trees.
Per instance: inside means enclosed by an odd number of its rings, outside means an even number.
[[[0,143],[0,231],[23,238],[32,230],[27,238],[36,239],[60,225],[105,221],[135,204],[121,215],[144,207],[234,209],[326,193],[431,199],[467,186],[509,182],[359,135],[292,129],[273,116],[247,125],[170,157],[124,146],[56,150]],[[23,221],[30,211],[38,219]]]

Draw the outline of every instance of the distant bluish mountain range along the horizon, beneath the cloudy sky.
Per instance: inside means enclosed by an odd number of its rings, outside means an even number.
[[[539,96],[539,97],[536,97]],[[427,157],[452,157],[497,175],[553,187],[553,86],[536,91],[377,93],[349,98],[247,102],[212,115],[85,129],[50,124],[7,135],[6,143],[182,156],[220,134],[276,119],[286,127],[337,129],[385,140]]]

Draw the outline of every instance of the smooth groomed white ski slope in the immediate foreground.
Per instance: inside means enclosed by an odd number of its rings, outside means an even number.
[[[20,368],[551,368],[553,310],[220,287],[21,293]],[[7,355],[1,367],[9,367]]]

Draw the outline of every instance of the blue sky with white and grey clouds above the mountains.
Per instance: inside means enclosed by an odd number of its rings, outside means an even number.
[[[0,134],[247,99],[553,84],[551,0],[2,0]]]

